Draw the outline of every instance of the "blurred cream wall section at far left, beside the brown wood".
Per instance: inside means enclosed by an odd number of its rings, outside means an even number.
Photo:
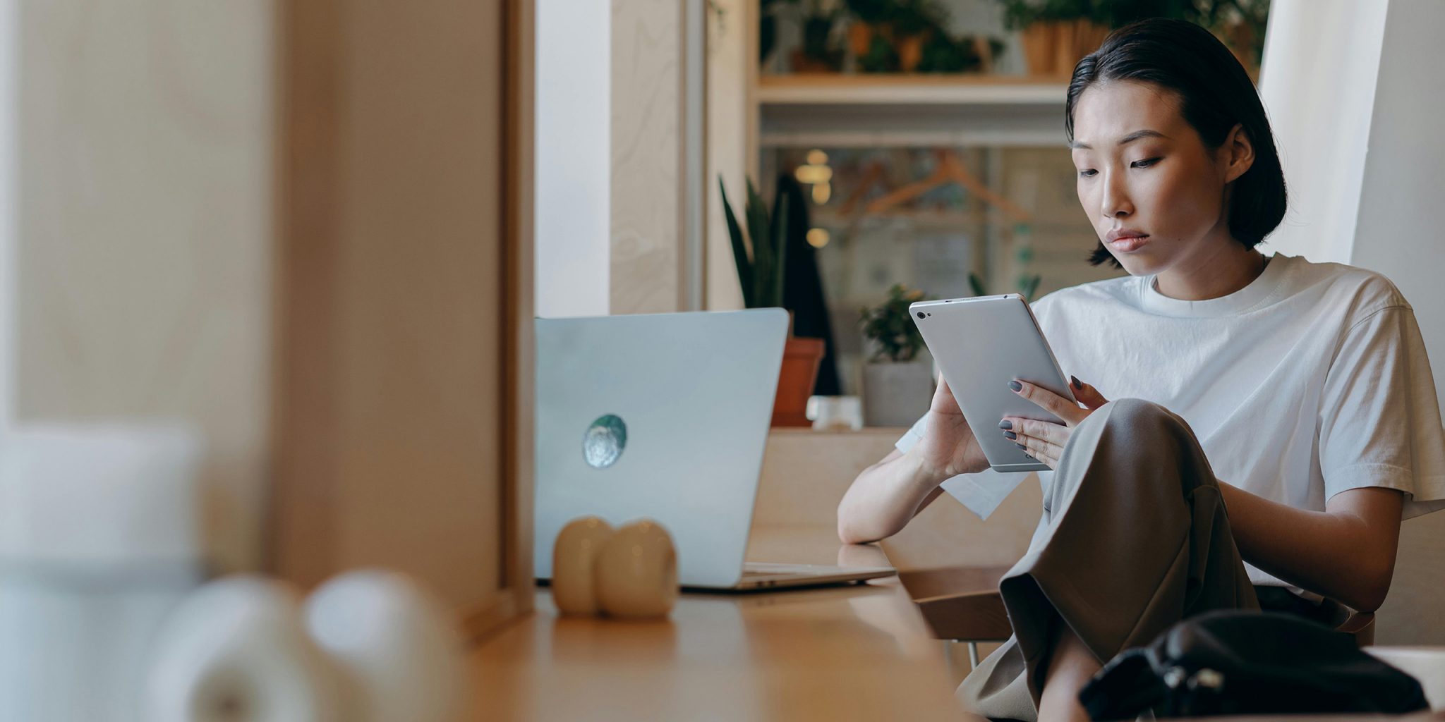
[[[17,419],[197,425],[208,438],[212,560],[254,567],[269,413],[270,1],[19,9]]]

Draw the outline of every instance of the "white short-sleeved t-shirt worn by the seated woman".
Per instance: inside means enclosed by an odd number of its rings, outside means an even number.
[[[1406,518],[1445,508],[1435,381],[1415,310],[1389,279],[1276,254],[1218,299],[1170,299],[1153,282],[1126,276],[1033,303],[1065,374],[1182,416],[1220,481],[1251,494],[1324,511],[1341,491],[1386,487],[1405,492]],[[967,474],[944,488],[987,518],[1026,475]],[[1048,488],[1052,472],[1039,481]],[[1246,566],[1254,583],[1283,583]]]

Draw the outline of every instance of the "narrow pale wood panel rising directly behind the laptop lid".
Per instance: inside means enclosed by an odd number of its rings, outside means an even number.
[[[678,0],[613,0],[613,313],[682,299],[682,22]]]

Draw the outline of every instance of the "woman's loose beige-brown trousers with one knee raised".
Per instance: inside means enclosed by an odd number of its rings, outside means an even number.
[[[1038,719],[1059,624],[1104,663],[1186,617],[1259,608],[1198,439],[1137,399],[1074,429],[1029,552],[1000,591],[1013,637],[958,687],[994,719]]]

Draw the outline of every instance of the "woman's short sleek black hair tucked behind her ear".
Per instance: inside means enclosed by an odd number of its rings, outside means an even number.
[[[1074,66],[1064,131],[1074,140],[1074,107],[1091,85],[1107,81],[1147,82],[1173,91],[1185,121],[1204,144],[1220,147],[1235,124],[1254,146],[1254,163],[1234,179],[1230,234],[1253,248],[1285,218],[1285,170],[1274,149],[1264,104],[1240,61],[1209,30],[1186,20],[1155,17],[1110,33],[1097,51]],[[1090,263],[1121,267],[1103,243]]]

